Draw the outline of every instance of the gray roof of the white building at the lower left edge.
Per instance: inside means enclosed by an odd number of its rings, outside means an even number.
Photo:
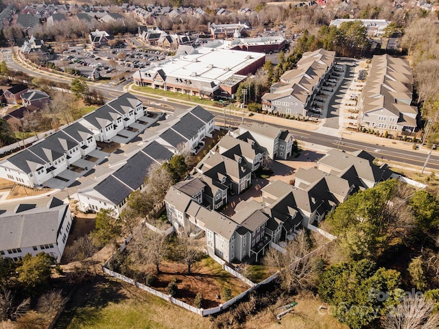
[[[43,201],[47,202],[47,199],[43,198]],[[10,208],[0,210],[0,250],[55,244],[60,212],[69,205],[54,199],[50,198],[47,206],[34,204],[34,207],[27,207],[28,210],[19,213]],[[16,204],[10,206],[20,208]]]

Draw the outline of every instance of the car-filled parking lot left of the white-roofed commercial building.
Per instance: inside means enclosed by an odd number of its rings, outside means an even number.
[[[95,80],[142,69],[152,62],[164,60],[167,55],[169,53],[155,49],[128,49],[127,45],[97,49],[92,49],[90,45],[86,48],[84,45],[70,45],[51,62],[62,71],[71,69],[76,75]]]

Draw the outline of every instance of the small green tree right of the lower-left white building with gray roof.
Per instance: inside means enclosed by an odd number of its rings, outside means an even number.
[[[96,215],[95,230],[91,232],[93,244],[102,247],[107,243],[112,243],[116,247],[116,239],[121,234],[121,226],[115,218],[115,212],[111,209],[101,209]]]

